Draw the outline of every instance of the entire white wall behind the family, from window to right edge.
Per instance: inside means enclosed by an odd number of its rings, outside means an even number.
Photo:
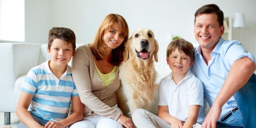
[[[240,41],[256,56],[255,0],[25,0],[25,42],[47,43],[52,27],[71,28],[77,43],[90,43],[103,20],[110,14],[122,15],[130,29],[147,27],[159,43],[170,43],[168,35],[180,36],[197,44],[194,37],[194,13],[205,4],[217,4],[224,16],[245,14],[246,27],[241,28]],[[233,39],[239,39],[233,28]]]

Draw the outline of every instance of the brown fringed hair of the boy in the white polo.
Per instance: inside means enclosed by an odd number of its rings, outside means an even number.
[[[169,57],[176,48],[179,50],[180,53],[183,52],[188,55],[191,61],[194,61],[195,49],[190,42],[184,40],[183,38],[173,40],[167,47],[166,56]]]

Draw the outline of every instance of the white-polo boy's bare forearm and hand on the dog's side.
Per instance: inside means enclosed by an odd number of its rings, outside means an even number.
[[[168,106],[160,106],[158,105],[158,117],[165,120],[167,123],[171,124],[174,128],[182,128],[183,123],[179,119],[174,116],[171,116],[168,113]]]

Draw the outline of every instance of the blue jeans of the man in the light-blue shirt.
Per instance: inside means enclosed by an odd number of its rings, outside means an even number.
[[[224,121],[218,120],[217,128],[255,128],[256,127],[256,75],[234,94],[238,110]]]

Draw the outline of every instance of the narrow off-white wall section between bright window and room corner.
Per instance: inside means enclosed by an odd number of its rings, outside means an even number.
[[[51,28],[49,0],[25,0],[25,42],[47,43]]]

